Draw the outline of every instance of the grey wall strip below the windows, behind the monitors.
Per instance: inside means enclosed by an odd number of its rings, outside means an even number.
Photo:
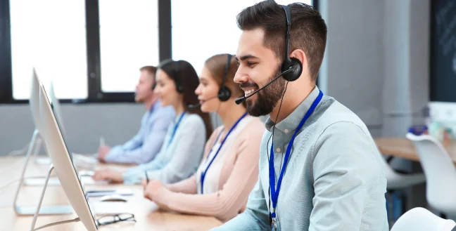
[[[96,152],[100,136],[108,145],[125,142],[137,133],[145,112],[134,103],[63,104],[61,110],[68,136],[65,141],[70,152],[77,153]],[[33,130],[28,105],[0,105],[0,155],[24,147]]]

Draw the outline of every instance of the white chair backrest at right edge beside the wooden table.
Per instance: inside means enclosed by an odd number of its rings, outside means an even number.
[[[434,209],[455,210],[456,169],[443,145],[429,135],[407,133],[419,155],[426,176],[426,198]]]

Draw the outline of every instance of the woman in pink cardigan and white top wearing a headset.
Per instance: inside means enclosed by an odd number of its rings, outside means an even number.
[[[216,112],[223,125],[205,146],[198,171],[186,180],[166,184],[143,180],[144,197],[163,209],[215,216],[223,222],[246,208],[258,180],[258,158],[265,126],[234,100],[244,95],[234,83],[239,63],[229,54],[206,60],[195,93],[203,112]],[[164,184],[163,184],[164,183]]]

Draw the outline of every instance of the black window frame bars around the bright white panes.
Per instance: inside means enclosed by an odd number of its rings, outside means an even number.
[[[0,105],[26,104],[13,98],[10,0],[0,0]],[[312,0],[318,10],[318,0]],[[158,0],[158,58],[172,58],[171,0]],[[87,41],[87,99],[60,99],[61,103],[134,103],[134,92],[101,91],[99,1],[85,0]]]

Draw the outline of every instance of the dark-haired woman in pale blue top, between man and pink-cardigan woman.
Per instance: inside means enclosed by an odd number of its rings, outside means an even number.
[[[184,60],[165,60],[156,72],[155,93],[162,106],[171,105],[176,118],[168,127],[163,146],[152,161],[128,169],[127,172],[104,169],[96,171],[94,180],[113,183],[141,183],[141,179],[177,183],[195,173],[201,162],[204,144],[212,132],[208,113],[189,108],[198,103],[194,91],[198,87],[198,74]]]

